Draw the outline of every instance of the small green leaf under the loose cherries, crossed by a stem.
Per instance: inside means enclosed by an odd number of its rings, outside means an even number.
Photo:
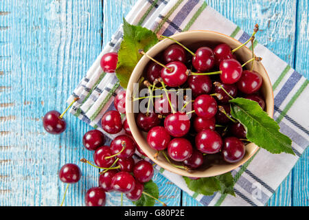
[[[152,195],[155,198],[159,198],[159,188],[154,181],[150,180],[144,184],[144,192]],[[137,201],[132,201],[135,206],[155,206],[155,199],[142,194],[141,198]]]

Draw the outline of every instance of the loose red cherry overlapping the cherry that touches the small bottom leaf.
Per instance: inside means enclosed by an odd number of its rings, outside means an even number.
[[[132,192],[135,188],[135,179],[130,173],[120,171],[112,179],[113,189],[118,192]]]

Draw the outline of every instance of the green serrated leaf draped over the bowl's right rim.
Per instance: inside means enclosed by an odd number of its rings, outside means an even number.
[[[279,125],[262,110],[258,102],[245,98],[234,98],[231,103],[231,115],[246,129],[247,139],[270,153],[290,153],[292,140],[279,132]]]

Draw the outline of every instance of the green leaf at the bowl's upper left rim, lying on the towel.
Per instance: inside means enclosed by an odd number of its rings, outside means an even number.
[[[158,42],[159,40],[154,32],[141,26],[130,25],[124,19],[124,40],[118,51],[118,63],[115,71],[122,87],[128,86],[128,80],[133,69],[143,56],[139,54],[139,50],[147,52],[150,47]]]

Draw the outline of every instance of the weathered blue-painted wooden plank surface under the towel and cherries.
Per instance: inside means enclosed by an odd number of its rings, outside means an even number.
[[[58,206],[65,190],[57,175],[60,166],[91,159],[81,142],[87,124],[67,114],[67,131],[52,136],[43,131],[41,118],[51,109],[65,109],[66,98],[135,2],[0,1],[1,206]],[[247,32],[259,23],[258,41],[308,78],[308,1],[207,3]],[[307,150],[268,206],[308,206],[308,164]],[[67,206],[83,206],[84,192],[98,184],[97,170],[81,168],[84,175],[70,186]],[[158,173],[154,179],[170,206],[199,205]],[[108,196],[109,205],[119,201],[119,195]]]

